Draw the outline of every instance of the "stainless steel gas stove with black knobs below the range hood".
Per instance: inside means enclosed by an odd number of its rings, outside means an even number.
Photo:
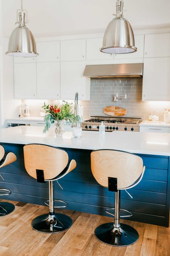
[[[142,117],[124,116],[91,116],[82,123],[82,129],[99,131],[99,125],[104,122],[105,131],[139,131],[139,123]]]

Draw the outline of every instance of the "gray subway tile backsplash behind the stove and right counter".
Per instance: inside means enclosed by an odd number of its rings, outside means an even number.
[[[113,102],[113,97],[127,94],[127,99]],[[105,116],[103,108],[106,106],[118,106],[127,109],[127,116],[142,116],[147,119],[150,111],[156,111],[163,120],[163,109],[155,103],[153,106],[148,102],[142,102],[142,78],[93,78],[91,79],[91,100],[81,101],[84,107],[84,117],[93,115]]]

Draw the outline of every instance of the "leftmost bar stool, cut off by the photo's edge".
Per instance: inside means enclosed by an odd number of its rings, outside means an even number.
[[[9,152],[6,157],[3,159],[5,155],[5,150],[3,146],[0,145],[0,168],[3,168],[4,166],[7,166],[10,163],[13,163],[17,160],[17,157],[14,153]],[[4,180],[2,175],[0,174],[0,177]],[[2,192],[2,193],[1,193]],[[1,195],[10,195],[11,191],[8,189],[0,189],[0,196]],[[11,212],[13,212],[15,209],[14,204],[7,203],[7,202],[0,202],[0,217],[7,215]]]

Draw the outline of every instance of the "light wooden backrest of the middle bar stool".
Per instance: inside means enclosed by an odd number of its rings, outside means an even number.
[[[68,154],[59,148],[28,144],[24,146],[24,162],[31,177],[37,179],[38,169],[44,171],[44,180],[52,180],[67,166]]]

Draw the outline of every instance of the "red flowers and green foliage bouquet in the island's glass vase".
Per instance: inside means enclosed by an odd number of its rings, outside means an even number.
[[[43,133],[49,130],[51,127],[51,124],[54,124],[56,121],[62,121],[62,120],[68,120],[72,125],[76,122],[82,122],[82,119],[80,116],[76,116],[74,114],[73,104],[69,104],[68,102],[64,102],[63,104],[49,104],[46,105],[44,102],[44,105],[42,108],[45,110],[45,128],[43,130]],[[63,131],[62,131],[63,132]],[[62,134],[61,134],[62,135]]]

